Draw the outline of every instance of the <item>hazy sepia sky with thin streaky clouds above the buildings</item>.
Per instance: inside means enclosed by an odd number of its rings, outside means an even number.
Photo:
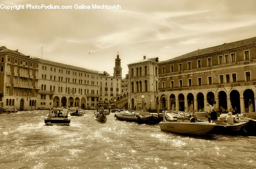
[[[254,0],[1,0],[1,4],[73,9],[0,9],[0,46],[110,75],[118,51],[123,77],[127,64],[143,55],[168,60],[256,36]],[[75,4],[119,4],[121,9],[74,9]]]

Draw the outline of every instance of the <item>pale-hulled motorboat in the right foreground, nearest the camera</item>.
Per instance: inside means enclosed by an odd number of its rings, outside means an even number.
[[[177,121],[166,121],[163,113],[163,121],[159,123],[160,129],[179,134],[206,134],[216,126],[215,123],[197,122],[190,123],[186,117],[177,117]]]

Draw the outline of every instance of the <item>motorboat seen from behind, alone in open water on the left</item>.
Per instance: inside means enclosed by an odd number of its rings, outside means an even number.
[[[55,117],[49,117],[50,112],[55,114]],[[61,108],[53,108],[50,109],[49,113],[44,119],[45,125],[61,125],[61,126],[69,126],[70,124],[70,114],[68,113],[68,109]]]

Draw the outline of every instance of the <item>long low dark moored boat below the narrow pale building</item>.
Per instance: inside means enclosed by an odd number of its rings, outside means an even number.
[[[137,123],[154,123],[153,115],[149,112],[129,112],[129,111],[122,111],[122,112],[115,112],[114,117],[117,120],[125,120],[125,121],[132,121]]]

